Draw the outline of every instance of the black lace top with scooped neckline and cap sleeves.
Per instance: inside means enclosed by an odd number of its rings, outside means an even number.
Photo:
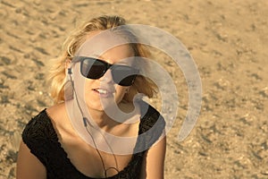
[[[136,151],[139,152],[132,155],[129,164],[123,170],[108,178],[138,179],[146,152],[141,149],[148,149],[154,144],[162,134],[164,124],[162,115],[155,108],[142,103],[138,141],[135,146]],[[140,137],[142,134],[146,137]],[[22,132],[22,140],[27,144],[30,152],[46,167],[48,179],[93,179],[80,173],[71,164],[67,153],[61,147],[51,119],[46,114],[46,109],[29,121]]]

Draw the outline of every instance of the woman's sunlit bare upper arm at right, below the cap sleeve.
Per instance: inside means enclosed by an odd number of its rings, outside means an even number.
[[[163,179],[166,137],[147,150],[143,161],[141,179]]]

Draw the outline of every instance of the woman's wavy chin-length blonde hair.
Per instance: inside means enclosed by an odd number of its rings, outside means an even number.
[[[82,26],[72,31],[69,38],[63,43],[62,55],[52,60],[50,65],[48,81],[51,81],[50,94],[54,99],[54,103],[60,103],[65,100],[64,86],[66,85],[66,60],[71,60],[71,57],[74,56],[79,47],[86,41],[88,34],[96,30],[108,30],[121,25],[126,25],[126,21],[119,16],[100,16],[85,22]],[[124,38],[136,38],[130,31],[128,31],[127,34],[124,34],[124,36]],[[133,49],[135,56],[149,56],[149,51],[144,45],[138,43],[130,43],[129,45],[130,48]],[[148,98],[152,98],[156,90],[157,87],[153,81],[145,76],[137,75],[129,92],[125,94],[123,100],[128,102],[133,101],[133,98],[137,93],[143,93]]]

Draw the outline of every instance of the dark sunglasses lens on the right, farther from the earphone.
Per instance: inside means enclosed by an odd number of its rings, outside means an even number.
[[[137,71],[130,66],[114,65],[112,74],[115,83],[121,86],[130,86],[137,76]]]

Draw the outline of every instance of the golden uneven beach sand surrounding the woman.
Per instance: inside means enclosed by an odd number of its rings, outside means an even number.
[[[203,104],[182,142],[188,89],[180,69],[168,67],[180,108],[168,133],[166,178],[268,178],[266,0],[1,0],[0,178],[15,178],[24,125],[52,105],[46,61],[59,54],[76,23],[101,14],[166,30],[196,61]]]

